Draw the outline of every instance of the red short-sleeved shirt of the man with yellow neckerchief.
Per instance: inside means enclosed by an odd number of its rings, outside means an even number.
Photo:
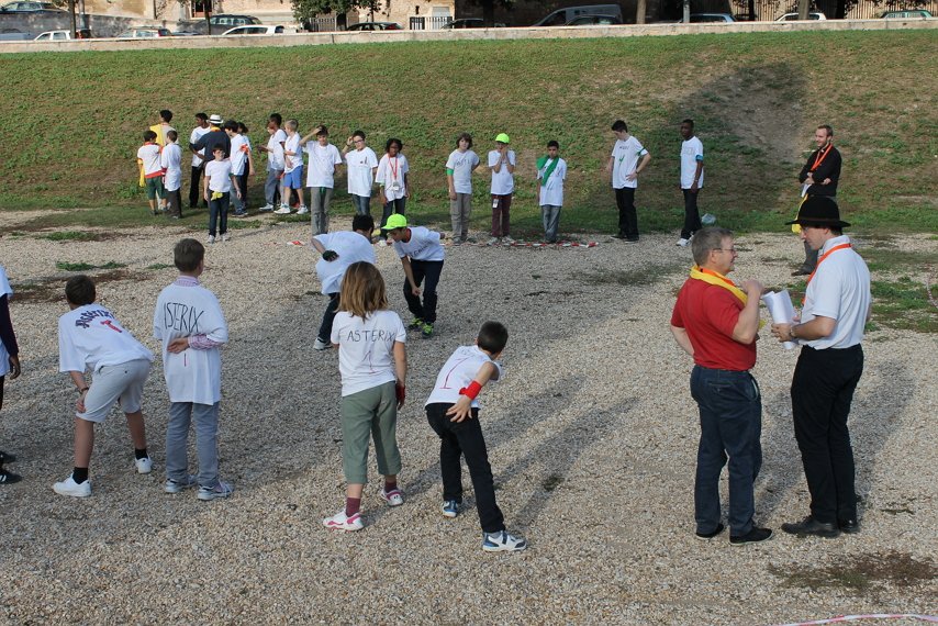
[[[733,339],[741,310],[742,302],[729,290],[689,278],[678,293],[671,325],[688,332],[696,365],[745,371],[756,365],[756,342]]]

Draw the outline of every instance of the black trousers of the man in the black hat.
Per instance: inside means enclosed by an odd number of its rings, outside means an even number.
[[[801,349],[792,378],[792,414],[811,515],[825,524],[857,518],[853,448],[847,416],[863,373],[863,349]]]

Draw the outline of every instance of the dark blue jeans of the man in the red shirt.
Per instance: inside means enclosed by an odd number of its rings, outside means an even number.
[[[719,474],[729,457],[729,534],[752,529],[752,483],[762,467],[762,398],[748,371],[694,366],[691,395],[701,414],[694,517],[697,533],[719,524]]]

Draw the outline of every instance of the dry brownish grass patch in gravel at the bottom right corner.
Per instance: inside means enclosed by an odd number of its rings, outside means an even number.
[[[882,591],[886,585],[915,586],[930,582],[938,569],[929,560],[918,560],[906,552],[859,555],[824,567],[769,566],[769,572],[792,588],[814,591],[839,588],[863,594]]]

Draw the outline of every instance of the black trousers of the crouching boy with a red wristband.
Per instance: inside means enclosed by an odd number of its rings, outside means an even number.
[[[453,404],[434,403],[426,406],[426,418],[434,432],[439,435],[439,470],[443,474],[443,499],[462,502],[462,465],[466,457],[472,490],[476,492],[476,508],[479,523],[485,533],[499,533],[505,529],[505,518],[495,503],[495,483],[492,466],[489,465],[489,451],[482,426],[479,425],[479,410],[472,410],[472,417],[462,422],[450,422],[446,412]]]

